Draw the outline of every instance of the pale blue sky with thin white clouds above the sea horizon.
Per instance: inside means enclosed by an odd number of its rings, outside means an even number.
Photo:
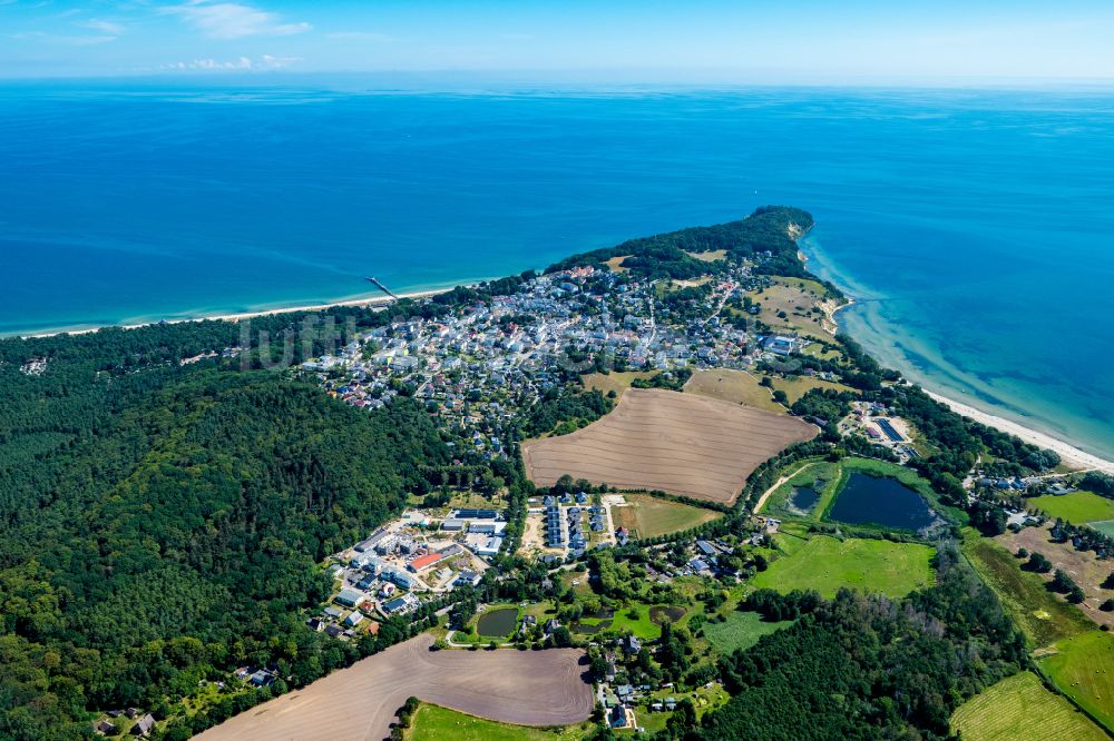
[[[0,0],[0,77],[1114,79],[1114,2]]]

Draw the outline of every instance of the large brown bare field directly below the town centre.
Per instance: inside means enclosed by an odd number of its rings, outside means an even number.
[[[793,417],[693,394],[631,388],[610,414],[587,427],[524,443],[522,458],[539,486],[569,474],[730,504],[760,463],[815,434]]]

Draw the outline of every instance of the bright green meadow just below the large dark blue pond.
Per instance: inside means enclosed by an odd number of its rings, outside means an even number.
[[[818,535],[770,564],[753,584],[779,592],[817,590],[825,597],[841,586],[901,596],[932,583],[932,553],[917,543]]]

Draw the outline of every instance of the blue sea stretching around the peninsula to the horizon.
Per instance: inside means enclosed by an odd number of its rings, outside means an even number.
[[[0,334],[540,267],[811,210],[847,329],[1114,457],[1114,95],[0,88]]]

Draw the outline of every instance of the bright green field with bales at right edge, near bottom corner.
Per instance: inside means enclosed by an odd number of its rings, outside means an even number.
[[[1040,669],[1087,712],[1114,731],[1114,636],[1102,631],[1061,641]]]

